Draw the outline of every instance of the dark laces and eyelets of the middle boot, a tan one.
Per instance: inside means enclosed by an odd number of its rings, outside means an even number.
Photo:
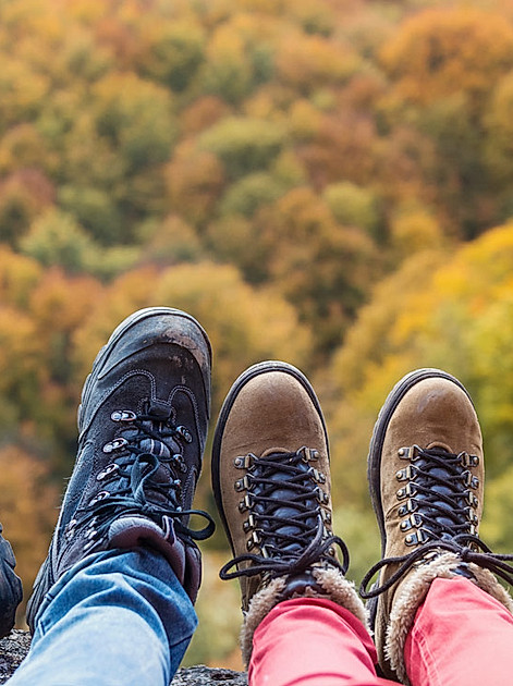
[[[325,527],[321,503],[326,504],[327,497],[317,486],[323,476],[305,462],[305,451],[248,456],[252,466],[241,490],[247,491],[243,506],[248,512],[249,540],[260,552],[231,560],[219,573],[222,579],[302,574],[320,561],[345,574],[347,548]],[[342,551],[342,564],[334,558],[333,546]],[[243,563],[248,564],[241,568]]]

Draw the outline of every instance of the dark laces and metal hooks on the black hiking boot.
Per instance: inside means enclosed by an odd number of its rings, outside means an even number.
[[[107,536],[119,516],[131,514],[145,515],[159,525],[164,516],[169,517],[173,519],[175,534],[184,540],[211,536],[215,529],[211,516],[203,510],[184,510],[181,504],[182,479],[187,473],[183,449],[193,441],[188,429],[151,411],[139,414],[114,411],[111,419],[123,428],[102,449],[112,455],[112,462],[96,477],[105,490],[76,511],[66,527],[66,537],[72,538],[78,525],[88,525],[86,551]],[[184,522],[191,515],[206,519],[206,526],[199,530],[186,526]]]

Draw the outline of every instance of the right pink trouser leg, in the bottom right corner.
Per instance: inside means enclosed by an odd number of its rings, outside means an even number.
[[[435,579],[404,659],[412,686],[510,684],[513,616],[466,578]]]

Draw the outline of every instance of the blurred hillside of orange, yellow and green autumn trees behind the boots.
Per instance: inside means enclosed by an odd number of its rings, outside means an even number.
[[[0,519],[26,596],[82,383],[148,305],[207,329],[213,418],[249,364],[312,378],[355,579],[381,403],[414,367],[459,376],[483,537],[513,551],[513,0],[0,0]],[[236,666],[221,530],[204,550],[186,660]]]

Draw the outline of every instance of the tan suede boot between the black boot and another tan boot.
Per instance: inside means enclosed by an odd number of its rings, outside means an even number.
[[[298,369],[267,362],[235,381],[216,427],[212,486],[234,555],[220,576],[241,584],[246,663],[254,630],[282,600],[327,597],[365,622],[332,531],[322,413]]]

